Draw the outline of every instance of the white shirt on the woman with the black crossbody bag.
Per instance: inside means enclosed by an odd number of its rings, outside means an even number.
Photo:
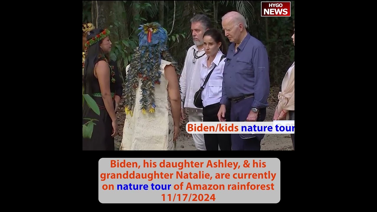
[[[224,71],[224,65],[226,58],[220,61],[222,56],[222,52],[218,51],[215,59],[212,61],[211,65],[207,67],[207,59],[208,56],[205,55],[205,59],[202,61],[202,67],[200,69],[201,75],[201,83],[199,85],[202,86],[204,84],[205,78],[211,72],[213,67],[216,65],[216,68],[213,70],[210,78],[208,79],[207,83],[204,85],[204,89],[202,91],[202,100],[203,106],[207,107],[211,104],[219,103],[222,97],[222,72]]]

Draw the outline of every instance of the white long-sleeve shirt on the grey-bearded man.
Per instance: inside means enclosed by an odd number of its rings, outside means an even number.
[[[203,54],[204,56],[194,60],[194,50],[197,57],[200,57]],[[205,56],[204,49],[198,51],[198,47],[196,45],[191,46],[187,51],[181,77],[179,78],[179,85],[181,86],[182,91],[181,99],[184,101],[182,108],[199,109],[194,105],[194,95],[200,88],[200,68]],[[193,63],[193,61],[195,61],[195,63]]]

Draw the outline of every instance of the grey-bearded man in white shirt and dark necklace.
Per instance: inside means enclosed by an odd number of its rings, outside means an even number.
[[[184,119],[183,108],[189,112],[189,121],[203,121],[203,110],[194,105],[195,92],[200,88],[200,65],[204,60],[203,34],[212,27],[211,19],[206,15],[195,15],[190,20],[194,45],[189,48],[183,65],[179,85],[181,86],[182,110],[181,118]],[[197,150],[206,150],[204,134],[192,134]]]

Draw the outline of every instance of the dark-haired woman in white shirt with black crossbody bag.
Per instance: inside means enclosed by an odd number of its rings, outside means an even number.
[[[203,35],[205,59],[202,62],[200,75],[201,86],[205,78],[213,69],[202,91],[203,121],[216,121],[220,109],[222,96],[222,72],[224,71],[227,47],[222,33],[217,29],[208,29]],[[227,109],[230,111],[230,109]],[[230,120],[230,114],[225,115]],[[207,150],[232,150],[231,134],[204,134],[205,148]]]

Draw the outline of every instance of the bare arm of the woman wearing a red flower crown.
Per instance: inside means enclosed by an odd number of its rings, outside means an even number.
[[[106,61],[98,61],[95,66],[98,82],[102,94],[103,103],[105,104],[106,111],[109,113],[112,121],[116,121],[115,109],[113,100],[110,93],[110,68]]]

